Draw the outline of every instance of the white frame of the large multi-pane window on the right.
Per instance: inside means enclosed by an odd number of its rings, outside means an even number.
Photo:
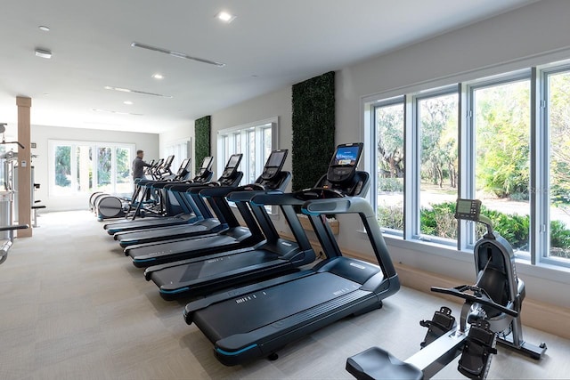
[[[530,66],[530,65],[529,65]],[[506,66],[507,67],[507,66]],[[376,145],[378,143],[375,125],[375,109],[377,107],[404,103],[404,150],[406,155],[403,196],[404,196],[404,222],[403,231],[382,229],[385,236],[397,247],[408,247],[417,251],[426,251],[437,254],[441,252],[456,252],[438,239],[422,241],[418,238],[419,229],[419,195],[414,195],[419,185],[419,124],[417,105],[419,99],[442,94],[447,89],[449,93],[458,92],[458,156],[459,178],[458,197],[472,198],[475,194],[475,128],[473,120],[474,96],[473,91],[486,86],[501,85],[521,80],[530,81],[530,178],[529,178],[529,255],[518,255],[517,261],[533,266],[548,266],[558,270],[567,271],[570,260],[552,258],[550,252],[550,125],[548,125],[548,76],[561,72],[570,73],[570,60],[558,61],[542,66],[531,66],[524,69],[515,69],[492,76],[485,75],[480,70],[481,77],[473,80],[458,81],[451,85],[441,86],[440,80],[425,82],[400,89],[393,89],[384,93],[377,93],[361,98],[362,131],[365,139],[364,165],[365,170],[377,173]],[[488,71],[487,71],[488,72]],[[475,76],[477,72],[470,72]],[[452,78],[452,77],[450,77]],[[462,79],[457,77],[457,79]],[[439,85],[435,85],[439,82]],[[419,88],[422,87],[422,88]],[[367,152],[368,151],[368,152]],[[377,194],[378,182],[376,176],[371,178],[373,191],[367,197],[371,201],[375,212],[378,209]],[[413,210],[413,212],[410,212]],[[416,227],[414,227],[416,226]],[[382,226],[380,226],[382,227]],[[430,237],[432,238],[432,237]],[[399,243],[398,241],[401,241]],[[442,244],[443,243],[443,244]],[[457,252],[472,254],[475,244],[474,223],[460,222],[458,227]],[[443,249],[441,249],[443,248]],[[447,249],[446,249],[447,248]],[[447,255],[447,254],[445,254]],[[453,255],[454,257],[457,257]],[[461,256],[462,257],[462,256]]]

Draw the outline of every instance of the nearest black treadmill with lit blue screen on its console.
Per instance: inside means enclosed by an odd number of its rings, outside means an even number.
[[[186,305],[186,323],[199,327],[224,365],[261,357],[275,359],[282,346],[338,319],[378,309],[384,298],[400,288],[374,210],[361,198],[370,186],[370,175],[355,170],[361,153],[362,143],[339,145],[319,187],[252,198],[263,205],[278,203],[279,198],[302,202],[301,210],[327,257],[312,269],[208,295]],[[358,214],[379,265],[344,257],[326,214]]]

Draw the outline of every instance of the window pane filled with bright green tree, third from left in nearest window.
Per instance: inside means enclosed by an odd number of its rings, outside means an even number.
[[[530,79],[469,87],[473,99],[476,198],[519,255],[529,252]]]

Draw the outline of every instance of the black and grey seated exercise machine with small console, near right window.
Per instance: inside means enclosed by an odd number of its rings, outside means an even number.
[[[346,370],[357,379],[431,378],[461,355],[458,370],[472,379],[485,379],[492,354],[501,344],[540,360],[546,344],[523,340],[520,311],[525,299],[525,283],[517,278],[515,255],[509,242],[493,231],[489,218],[480,214],[481,201],[458,199],[455,218],[485,224],[487,232],[474,248],[476,283],[460,287],[432,287],[436,293],[465,300],[457,326],[451,309],[442,307],[428,327],[421,350],[407,360],[372,347],[346,360]]]

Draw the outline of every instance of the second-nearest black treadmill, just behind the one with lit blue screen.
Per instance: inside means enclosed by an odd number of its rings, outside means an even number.
[[[258,194],[282,193],[286,188],[291,177],[289,172],[281,171],[286,156],[287,150],[273,150],[264,173],[256,183],[233,190],[227,196],[229,201],[248,203],[265,234],[265,241],[248,250],[206,255],[147,268],[144,278],[152,280],[159,287],[162,298],[169,301],[181,296],[205,295],[225,287],[298,271],[297,267],[314,262],[313,247],[293,206],[280,205],[280,208],[297,242],[281,239],[265,206],[250,203],[251,198]]]

